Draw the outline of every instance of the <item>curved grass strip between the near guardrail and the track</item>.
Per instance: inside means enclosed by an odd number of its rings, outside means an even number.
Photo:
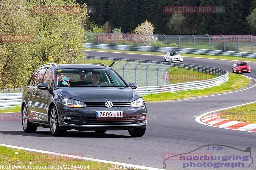
[[[229,73],[229,80],[219,86],[209,87],[200,90],[188,90],[182,92],[163,92],[159,94],[148,94],[142,96],[145,101],[165,101],[165,100],[177,100],[188,97],[196,97],[202,95],[215,94],[220,92],[229,92],[237,90],[239,88],[248,85],[249,80],[241,75]]]

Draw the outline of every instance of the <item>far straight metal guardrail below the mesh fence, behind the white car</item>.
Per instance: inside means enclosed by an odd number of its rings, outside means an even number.
[[[150,46],[127,46],[127,45],[108,45],[108,44],[85,44],[86,48],[113,49],[113,50],[130,50],[130,51],[151,51],[151,52],[168,52],[175,51],[187,54],[206,54],[206,55],[229,55],[245,58],[256,58],[256,53],[245,53],[236,51],[220,51],[194,48],[172,48],[172,47],[150,47]]]

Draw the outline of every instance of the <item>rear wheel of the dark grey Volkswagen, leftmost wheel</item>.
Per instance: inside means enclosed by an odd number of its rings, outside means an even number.
[[[24,107],[22,108],[21,117],[22,117],[22,128],[24,132],[35,133],[37,126],[30,124],[28,120],[28,109],[26,105],[24,105]]]

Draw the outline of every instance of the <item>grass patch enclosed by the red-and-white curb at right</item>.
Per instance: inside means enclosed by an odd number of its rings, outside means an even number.
[[[221,110],[218,116],[231,121],[256,123],[256,103]]]

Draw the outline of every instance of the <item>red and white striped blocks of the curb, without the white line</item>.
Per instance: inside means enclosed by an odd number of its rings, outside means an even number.
[[[201,122],[207,123],[212,126],[218,126],[227,129],[245,130],[256,132],[256,123],[246,123],[238,121],[230,121],[221,119],[217,113],[210,114],[200,119]]]

